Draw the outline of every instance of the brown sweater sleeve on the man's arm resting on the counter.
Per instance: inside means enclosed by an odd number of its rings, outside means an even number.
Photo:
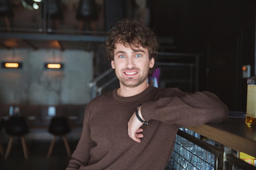
[[[167,89],[154,102],[141,106],[145,120],[158,120],[182,127],[220,123],[227,119],[228,108],[211,92],[184,93],[178,88]]]

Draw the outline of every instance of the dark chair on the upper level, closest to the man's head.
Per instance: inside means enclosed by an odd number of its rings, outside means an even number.
[[[79,30],[84,26],[87,30],[96,31],[95,20],[98,19],[98,8],[94,0],[80,0],[76,11],[76,20],[80,21]]]

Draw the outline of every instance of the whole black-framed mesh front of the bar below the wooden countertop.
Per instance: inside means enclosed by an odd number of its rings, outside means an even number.
[[[164,170],[256,170],[238,158],[238,151],[186,128],[178,130],[171,159]]]

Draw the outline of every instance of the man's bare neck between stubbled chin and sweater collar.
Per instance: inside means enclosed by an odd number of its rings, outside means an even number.
[[[147,81],[136,87],[126,87],[120,83],[120,88],[117,89],[117,94],[121,97],[131,97],[143,92],[149,84]]]

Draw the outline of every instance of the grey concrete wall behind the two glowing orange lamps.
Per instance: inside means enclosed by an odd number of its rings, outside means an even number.
[[[0,61],[22,62],[21,69],[0,68],[0,104],[86,104],[93,77],[93,52],[65,50],[0,50]],[[44,68],[62,62],[61,71]]]

